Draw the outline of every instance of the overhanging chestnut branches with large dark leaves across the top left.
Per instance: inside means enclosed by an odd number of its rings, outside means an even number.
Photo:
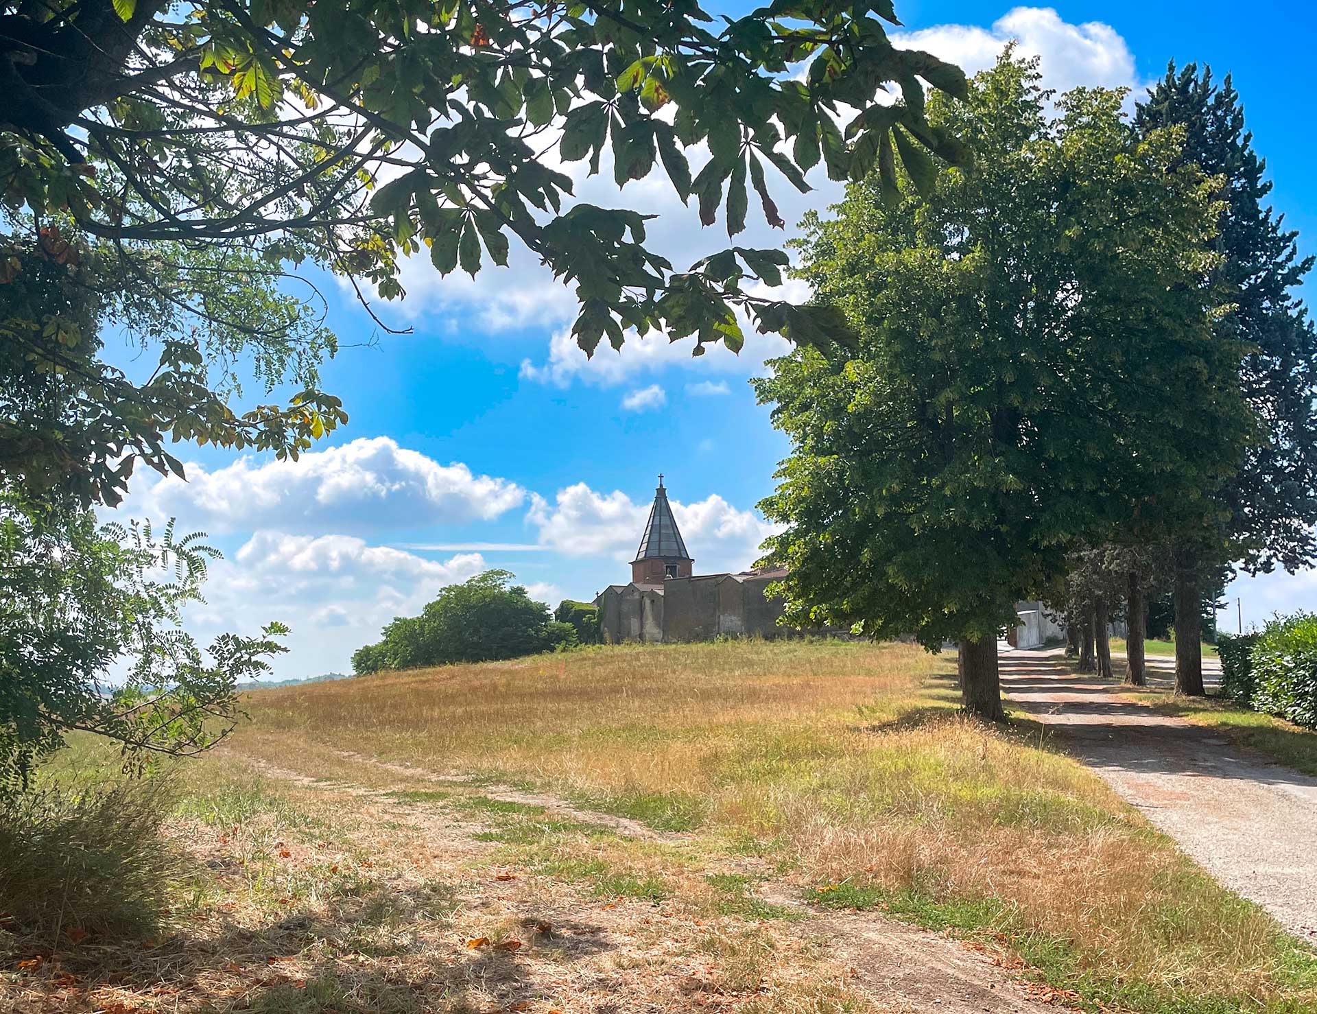
[[[735,237],[751,192],[781,227],[772,191],[809,190],[819,161],[843,179],[896,150],[957,158],[923,116],[925,83],[959,93],[964,75],[894,49],[885,22],[890,0],[776,0],[720,21],[694,0],[4,0],[0,212],[11,248],[68,263],[68,244],[95,246],[122,299],[182,317],[153,334],[161,370],[145,388],[94,365],[88,411],[133,437],[111,457],[176,470],[155,433],[295,456],[342,420],[313,370],[294,370],[306,390],[291,403],[233,417],[199,367],[234,344],[313,363],[328,349],[306,324],[313,294],[277,295],[299,269],[395,298],[404,257],[474,275],[520,244],[574,286],[587,352],[631,329],[694,336],[697,354],[738,349],[735,308],[822,340],[835,317],[743,284],[778,282],[781,250],[673,266],[647,245],[645,216],[574,200],[553,166],[597,173],[607,151],[619,187],[661,166],[706,225],[723,207]],[[807,74],[788,72],[805,61]],[[889,88],[900,101],[877,104]],[[706,146],[693,166],[686,153]],[[224,333],[198,338],[179,327],[188,316]],[[24,354],[65,369],[43,337],[25,336]],[[29,436],[21,416],[7,421]],[[122,493],[111,475],[105,490]]]

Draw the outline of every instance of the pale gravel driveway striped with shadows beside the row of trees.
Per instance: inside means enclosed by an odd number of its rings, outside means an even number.
[[[1317,778],[1075,676],[1060,649],[1005,651],[1001,676],[1019,707],[1222,884],[1317,943]]]

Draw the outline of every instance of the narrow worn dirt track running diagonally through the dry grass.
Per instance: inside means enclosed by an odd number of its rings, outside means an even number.
[[[545,793],[475,784],[461,774],[436,774],[423,768],[390,764],[345,751],[335,751],[335,755],[353,765],[369,768],[373,773],[383,772],[396,777],[399,781],[392,786],[394,789],[403,789],[417,782],[443,784],[458,795],[470,793],[493,799],[540,806],[554,815],[610,827],[626,838],[666,844],[681,843],[691,848],[699,844],[699,836],[695,834],[656,831],[640,822],[585,810],[566,799]],[[370,801],[387,799],[391,802],[390,815],[394,818],[407,809],[404,803],[391,797],[389,786],[366,787],[346,782],[342,777],[317,780],[304,772],[269,762],[261,762],[258,766],[267,777],[292,782],[306,790],[348,794]],[[419,830],[425,831],[427,835],[439,832],[445,845],[456,844],[453,839],[473,838],[473,832],[481,830],[477,824],[453,820],[444,809],[429,806],[427,811],[425,826]],[[411,820],[404,820],[404,823],[412,824]],[[474,838],[470,844],[475,844]],[[454,851],[461,853],[468,849],[457,848]],[[757,868],[752,870],[747,865],[749,860],[736,864],[734,860],[716,855],[702,859],[702,865],[707,868],[702,868],[701,874],[763,873]],[[1073,998],[1071,994],[1022,981],[1018,976],[1027,969],[1018,961],[1013,963],[981,944],[928,932],[876,913],[838,913],[819,909],[802,902],[799,899],[801,890],[799,885],[770,880],[763,884],[756,893],[763,901],[799,913],[802,918],[789,923],[790,935],[824,944],[832,960],[848,971],[853,982],[872,998],[876,1010],[881,1014],[934,1014],[934,1011],[936,1014],[1042,1014],[1043,1011],[1055,1013],[1058,1005],[1071,1006],[1068,1002]],[[606,907],[614,910],[608,913],[608,917],[611,922],[618,923],[611,926],[607,944],[610,948],[624,947],[624,942],[633,938],[633,934],[620,924],[620,921],[624,919],[623,909],[611,905]],[[561,918],[554,917],[553,922],[561,923]],[[648,923],[649,919],[644,918],[644,922]],[[649,959],[637,953],[627,960],[644,964]]]

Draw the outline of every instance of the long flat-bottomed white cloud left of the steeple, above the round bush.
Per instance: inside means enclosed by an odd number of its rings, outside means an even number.
[[[379,531],[493,520],[525,498],[516,483],[475,475],[461,462],[440,465],[389,437],[353,440],[298,461],[242,457],[215,471],[194,464],[187,475],[187,482],[170,477],[134,491],[129,510],[178,516],[211,532]]]

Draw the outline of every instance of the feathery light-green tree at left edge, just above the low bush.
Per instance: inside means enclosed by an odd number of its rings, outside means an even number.
[[[237,683],[269,672],[287,632],[225,633],[203,649],[180,610],[216,556],[198,536],[33,512],[0,495],[0,793],[71,732],[119,743],[125,764],[187,756],[233,728]]]

